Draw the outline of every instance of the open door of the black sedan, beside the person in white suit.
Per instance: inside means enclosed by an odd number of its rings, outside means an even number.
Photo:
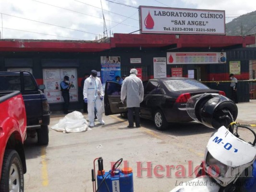
[[[127,112],[126,102],[121,102],[121,87],[121,84],[116,82],[106,82],[104,96],[105,115]]]

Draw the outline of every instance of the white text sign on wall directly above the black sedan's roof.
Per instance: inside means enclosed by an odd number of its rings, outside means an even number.
[[[154,57],[154,78],[165,78],[166,77],[166,58],[165,57]]]

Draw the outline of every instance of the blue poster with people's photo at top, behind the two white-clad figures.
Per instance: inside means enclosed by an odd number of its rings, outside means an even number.
[[[115,81],[116,76],[121,77],[121,60],[120,57],[101,56],[101,83],[106,81]]]

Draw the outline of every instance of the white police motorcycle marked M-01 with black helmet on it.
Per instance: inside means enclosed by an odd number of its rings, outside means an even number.
[[[256,192],[256,133],[249,128],[256,125],[233,122],[238,112],[236,105],[217,94],[193,96],[186,108],[194,120],[219,129],[208,141],[196,178],[171,192]],[[240,138],[240,128],[253,134],[252,143]]]

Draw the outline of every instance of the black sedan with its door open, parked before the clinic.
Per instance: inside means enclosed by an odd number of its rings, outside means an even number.
[[[195,79],[184,77],[150,79],[144,82],[144,100],[140,104],[140,117],[154,120],[158,130],[166,129],[169,122],[192,121],[186,111],[186,102],[191,96],[202,93],[218,93],[225,96],[223,91],[210,89]],[[106,82],[105,115],[127,112],[120,95],[120,84]]]

